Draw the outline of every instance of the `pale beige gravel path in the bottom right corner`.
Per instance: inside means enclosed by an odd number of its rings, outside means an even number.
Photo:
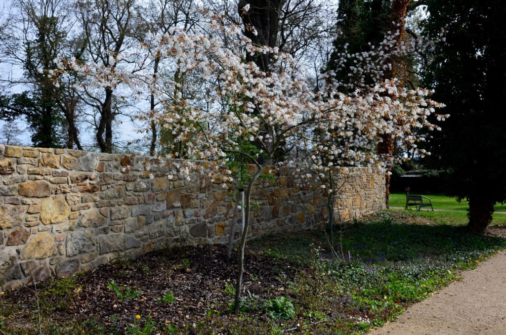
[[[369,334],[506,334],[506,251]]]

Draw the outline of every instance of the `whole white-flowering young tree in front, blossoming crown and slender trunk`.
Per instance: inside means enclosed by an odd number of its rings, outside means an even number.
[[[160,78],[149,69],[130,71],[128,78],[119,79],[131,83],[139,94],[144,94],[144,87],[161,102],[163,109],[147,112],[145,117],[152,118],[164,132],[172,134],[173,143],[185,148],[167,153],[215,161],[223,166],[225,182],[232,181],[227,161],[247,161],[253,166],[248,169],[244,187],[236,312],[240,307],[251,192],[282,146],[301,149],[311,157],[311,164],[299,165],[310,168],[310,176],[316,174],[323,181],[328,180],[325,177],[332,165],[377,162],[372,149],[381,134],[402,135],[415,142],[409,127],[397,126],[397,118],[414,127],[429,126],[425,117],[431,113],[432,104],[424,100],[423,92],[399,91],[394,80],[348,95],[332,84],[315,91],[306,68],[291,56],[253,44],[238,25],[205,10],[192,32],[175,27],[156,40],[156,44],[141,45],[139,54],[147,58],[156,55],[160,72],[184,73],[186,79],[166,80],[177,76]],[[251,55],[269,55],[269,71],[251,61],[257,58]],[[402,97],[402,102],[392,98],[396,96]],[[300,161],[294,159],[294,153],[285,156],[278,164]],[[183,170],[190,171],[188,167]],[[333,187],[325,189],[335,195]]]

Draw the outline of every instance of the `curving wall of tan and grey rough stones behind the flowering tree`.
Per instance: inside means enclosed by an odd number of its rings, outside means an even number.
[[[0,290],[176,241],[226,243],[230,193],[207,177],[208,162],[197,164],[202,171],[187,180],[152,157],[0,145]],[[327,215],[319,188],[271,169],[276,178],[259,180],[253,196],[251,237],[319,226]],[[354,169],[345,185],[338,217],[384,208],[383,174]]]

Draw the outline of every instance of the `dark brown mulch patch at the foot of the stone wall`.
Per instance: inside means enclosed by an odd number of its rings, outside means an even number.
[[[135,260],[120,260],[81,274],[75,279],[74,294],[65,308],[56,309],[55,320],[86,321],[92,318],[105,325],[131,324],[136,315],[150,316],[155,322],[176,326],[195,322],[210,310],[223,313],[233,297],[225,294],[226,284],[235,286],[237,256],[226,257],[225,245],[184,246],[151,252]],[[261,299],[284,290],[294,278],[293,267],[279,259],[265,256],[254,246],[248,247],[243,276],[243,297],[257,295]],[[139,289],[138,299],[118,300],[107,288],[114,280],[117,287]],[[51,289],[51,281],[37,285],[39,295]],[[166,292],[176,301],[160,301]],[[65,298],[65,299],[68,299]],[[36,295],[32,285],[9,292],[5,303],[21,302],[24,312],[16,316],[20,324],[29,323],[36,315]],[[26,319],[26,322],[23,322]]]

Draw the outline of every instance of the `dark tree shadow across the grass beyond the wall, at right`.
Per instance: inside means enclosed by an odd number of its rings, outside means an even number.
[[[506,239],[474,235],[465,227],[399,224],[389,220],[358,222],[347,227],[343,249],[365,263],[465,262],[506,247]]]

